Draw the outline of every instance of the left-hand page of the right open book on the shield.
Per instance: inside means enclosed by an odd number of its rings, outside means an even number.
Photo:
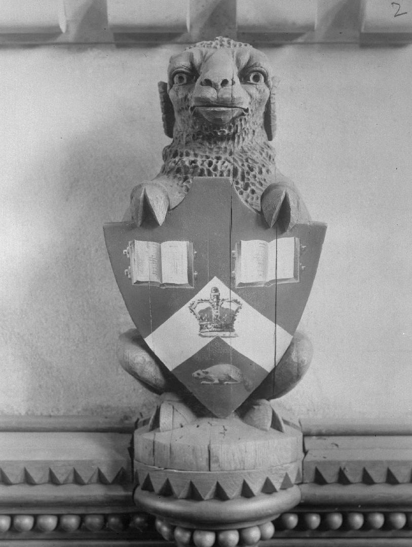
[[[240,242],[240,269],[237,283],[264,283],[268,269],[268,243],[261,240]]]

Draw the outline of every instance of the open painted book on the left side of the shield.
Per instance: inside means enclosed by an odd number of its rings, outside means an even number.
[[[134,285],[193,288],[193,243],[190,241],[129,241],[125,274]]]

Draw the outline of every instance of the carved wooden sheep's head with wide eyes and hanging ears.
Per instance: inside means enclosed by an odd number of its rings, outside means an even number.
[[[274,131],[274,89],[266,56],[229,38],[199,42],[170,59],[159,84],[166,135]]]

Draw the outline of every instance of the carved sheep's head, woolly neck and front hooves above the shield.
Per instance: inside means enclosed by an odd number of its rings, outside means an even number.
[[[229,38],[199,42],[170,59],[159,84],[164,130],[173,140],[153,181],[132,190],[125,220],[164,222],[193,177],[230,177],[241,200],[280,231],[308,222],[297,188],[276,169],[274,78],[266,56]]]

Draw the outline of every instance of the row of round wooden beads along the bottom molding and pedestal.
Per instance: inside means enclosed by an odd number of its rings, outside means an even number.
[[[88,514],[88,515],[0,515],[0,539],[5,533],[36,534],[60,533],[69,536],[79,532],[150,532],[151,518],[146,513],[132,514]],[[260,540],[276,537],[276,532],[322,533],[339,531],[385,532],[412,531],[412,513],[402,511],[296,511],[283,513],[274,522],[260,526],[227,530],[200,530],[174,526],[162,519],[155,520],[155,529],[167,541],[178,547],[253,547]]]

